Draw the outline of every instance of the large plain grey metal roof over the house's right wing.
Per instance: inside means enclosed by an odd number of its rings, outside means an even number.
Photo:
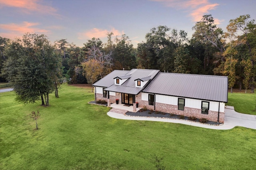
[[[228,77],[159,73],[143,92],[228,102]]]

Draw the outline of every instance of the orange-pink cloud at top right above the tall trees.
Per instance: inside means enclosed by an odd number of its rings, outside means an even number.
[[[189,13],[189,16],[193,18],[194,22],[198,22],[202,19],[202,16],[208,14],[210,10],[214,10],[219,4],[212,4],[209,0],[152,0],[171,8],[184,9]],[[220,20],[215,19],[215,22]],[[216,24],[220,24],[217,23]]]

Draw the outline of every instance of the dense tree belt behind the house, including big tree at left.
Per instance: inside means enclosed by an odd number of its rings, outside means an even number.
[[[184,30],[158,26],[136,48],[127,35],[112,38],[112,32],[106,43],[92,38],[83,47],[67,39],[52,44],[47,36],[30,33],[16,40],[0,37],[0,81],[13,83],[18,100],[29,103],[41,97],[44,104],[44,97],[46,105],[48,93],[55,91],[57,97],[64,79],[71,84],[92,84],[115,69],[224,75],[231,93],[233,88],[254,93],[255,20],[250,15],[231,19],[224,32],[211,15],[205,15],[192,30],[188,38]],[[24,95],[24,87],[35,98]]]

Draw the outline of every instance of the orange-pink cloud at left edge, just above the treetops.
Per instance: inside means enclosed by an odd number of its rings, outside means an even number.
[[[21,24],[0,24],[2,30],[1,37],[14,39],[16,37],[22,37],[25,33],[38,33],[38,34],[49,34],[50,30],[36,28],[35,26],[40,25],[35,22],[22,22]],[[3,31],[5,30],[5,31]]]

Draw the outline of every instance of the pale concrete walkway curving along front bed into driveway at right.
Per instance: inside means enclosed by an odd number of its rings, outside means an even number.
[[[108,112],[108,116],[116,119],[135,120],[135,121],[158,121],[168,123],[180,123],[184,125],[191,125],[195,127],[203,127],[218,130],[227,130],[236,126],[256,129],[256,115],[246,115],[234,111],[234,107],[228,107],[225,109],[225,120],[223,125],[214,126],[206,125],[203,123],[196,123],[192,121],[176,120],[176,119],[163,119],[163,118],[152,118],[152,117],[130,117],[120,113]]]

